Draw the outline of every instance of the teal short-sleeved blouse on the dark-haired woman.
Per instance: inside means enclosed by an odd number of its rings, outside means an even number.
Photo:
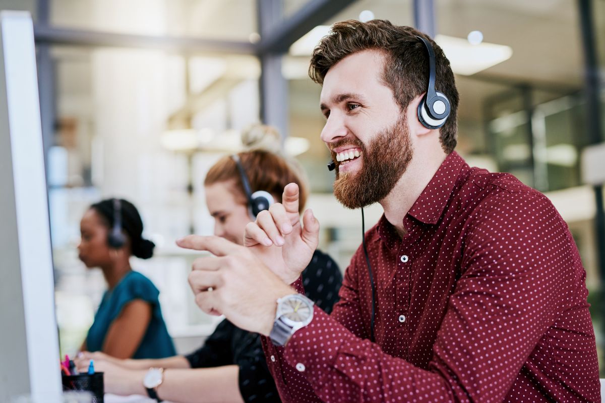
[[[159,295],[160,291],[143,274],[128,272],[114,289],[103,294],[99,310],[94,315],[93,326],[88,330],[88,351],[102,350],[111,323],[120,315],[124,306],[132,300],[143,300],[152,306],[151,321],[139,348],[131,358],[165,358],[176,355],[172,338],[162,318]]]

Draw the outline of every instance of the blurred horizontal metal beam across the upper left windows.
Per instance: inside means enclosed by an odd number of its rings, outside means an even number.
[[[101,31],[83,31],[34,25],[36,44],[76,45],[85,47],[154,48],[171,51],[198,51],[209,53],[255,54],[249,42],[119,34]]]

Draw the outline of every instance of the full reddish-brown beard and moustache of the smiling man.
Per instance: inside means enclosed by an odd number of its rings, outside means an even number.
[[[352,144],[362,150],[358,172],[339,173],[336,167],[334,195],[347,208],[365,207],[387,197],[407,169],[413,155],[405,118],[379,132],[367,147],[358,138],[342,140],[333,148]],[[333,160],[336,154],[332,153]],[[350,164],[350,163],[349,163]]]

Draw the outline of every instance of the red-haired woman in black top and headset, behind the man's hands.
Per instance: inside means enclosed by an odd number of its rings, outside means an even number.
[[[256,126],[244,134],[243,142],[249,147],[279,144],[267,141],[275,134],[270,127]],[[281,201],[284,186],[290,182],[301,189],[302,211],[306,187],[298,169],[284,158],[255,149],[219,160],[204,180],[206,204],[215,219],[214,234],[243,243],[246,224],[273,200]],[[342,282],[336,263],[316,251],[302,278],[307,297],[325,311],[332,311]],[[200,349],[185,356],[117,360],[86,354],[79,360],[81,369],[89,358],[96,359],[95,365],[105,372],[105,391],[109,393],[149,395],[181,403],[280,402],[259,335],[238,329],[227,320],[218,324]]]

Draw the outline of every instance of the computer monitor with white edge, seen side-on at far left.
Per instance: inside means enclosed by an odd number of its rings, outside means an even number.
[[[59,402],[59,344],[33,24],[0,12],[0,401]]]

